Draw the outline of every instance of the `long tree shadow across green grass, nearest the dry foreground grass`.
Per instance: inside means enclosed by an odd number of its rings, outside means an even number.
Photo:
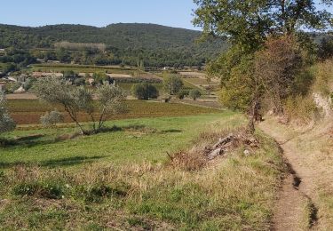
[[[72,156],[68,158],[61,158],[56,160],[48,160],[39,163],[31,163],[31,162],[0,162],[0,169],[8,169],[15,166],[39,166],[39,167],[48,167],[48,168],[56,168],[56,167],[69,167],[78,165],[81,163],[92,163],[96,160],[106,158],[108,155],[96,155],[96,156]]]

